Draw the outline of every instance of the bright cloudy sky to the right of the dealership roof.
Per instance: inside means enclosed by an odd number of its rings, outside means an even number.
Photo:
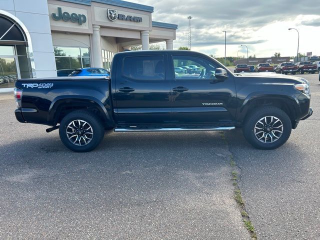
[[[224,56],[227,30],[227,56],[246,54],[282,56],[296,54],[297,28],[299,52],[320,55],[320,4],[314,0],[132,0],[154,7],[152,20],[178,24],[174,47],[187,45],[187,16],[192,15],[192,50]]]

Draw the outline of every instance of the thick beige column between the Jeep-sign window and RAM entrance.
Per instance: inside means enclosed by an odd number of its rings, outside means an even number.
[[[102,67],[100,26],[93,25],[92,30],[91,66]]]

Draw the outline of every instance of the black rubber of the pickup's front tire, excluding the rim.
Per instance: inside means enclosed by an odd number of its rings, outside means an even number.
[[[256,122],[263,116],[275,116],[279,118],[283,124],[283,132],[280,138],[272,143],[263,143],[254,135],[254,126]],[[245,139],[255,148],[258,149],[274,149],[286,142],[291,134],[291,120],[288,115],[277,107],[263,107],[251,113],[245,120],[243,125],[243,135]]]

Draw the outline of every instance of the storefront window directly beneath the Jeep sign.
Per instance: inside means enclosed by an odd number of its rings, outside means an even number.
[[[57,70],[91,66],[88,47],[54,46],[53,48]]]

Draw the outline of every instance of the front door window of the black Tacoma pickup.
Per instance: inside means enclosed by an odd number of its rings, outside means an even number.
[[[175,79],[215,79],[215,69],[219,67],[213,61],[203,57],[178,55],[173,56]],[[187,71],[178,71],[175,68],[188,66]]]

